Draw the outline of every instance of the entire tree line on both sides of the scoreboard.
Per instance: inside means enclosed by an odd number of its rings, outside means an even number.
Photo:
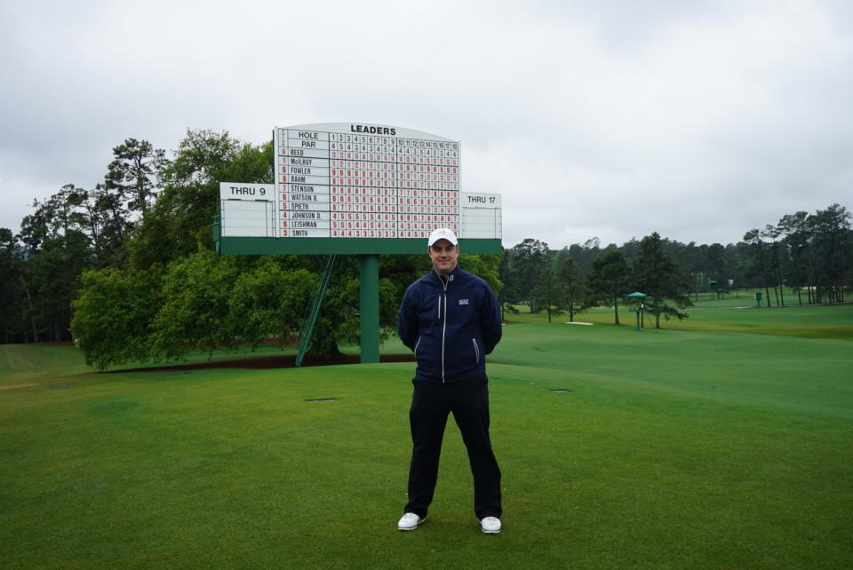
[[[74,341],[100,368],[180,359],[195,349],[288,344],[322,272],[322,256],[219,256],[211,224],[219,182],[271,183],[273,148],[217,131],[187,131],[171,158],[140,139],[113,149],[92,187],[62,186],[32,203],[20,232],[0,228],[0,342]],[[600,247],[553,250],[528,239],[502,255],[463,255],[506,303],[574,313],[618,305],[642,290],[659,318],[682,318],[691,293],[742,287],[834,302],[850,284],[850,215],[833,204],[797,212],[744,241],[687,245],[650,234]],[[424,256],[380,257],[380,321],[393,325],[405,288],[429,269]],[[310,352],[358,342],[358,271],[339,256]],[[629,290],[630,289],[630,290]],[[393,327],[383,329],[393,334]]]

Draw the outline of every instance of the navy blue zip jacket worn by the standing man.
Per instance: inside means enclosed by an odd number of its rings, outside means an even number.
[[[406,289],[397,328],[418,361],[416,380],[482,377],[500,340],[500,304],[486,281],[458,265],[447,281],[433,270]]]

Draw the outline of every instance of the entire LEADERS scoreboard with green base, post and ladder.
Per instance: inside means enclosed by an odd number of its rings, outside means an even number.
[[[335,257],[357,256],[364,363],[379,362],[380,255],[426,255],[438,227],[466,253],[503,250],[500,194],[461,191],[458,140],[381,124],[275,127],[272,166],[271,184],[219,183],[216,251],[328,256],[305,338]]]

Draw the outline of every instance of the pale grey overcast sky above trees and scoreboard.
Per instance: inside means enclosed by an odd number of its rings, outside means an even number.
[[[379,123],[461,141],[505,247],[739,241],[853,208],[853,2],[0,2],[0,227],[128,138]]]

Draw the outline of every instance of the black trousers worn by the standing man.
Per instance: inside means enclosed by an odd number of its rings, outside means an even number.
[[[474,514],[478,519],[500,517],[500,469],[489,438],[489,387],[485,376],[438,384],[413,381],[409,423],[411,466],[409,503],[404,512],[426,517],[438,479],[438,461],[447,416],[462,432],[474,475]]]

